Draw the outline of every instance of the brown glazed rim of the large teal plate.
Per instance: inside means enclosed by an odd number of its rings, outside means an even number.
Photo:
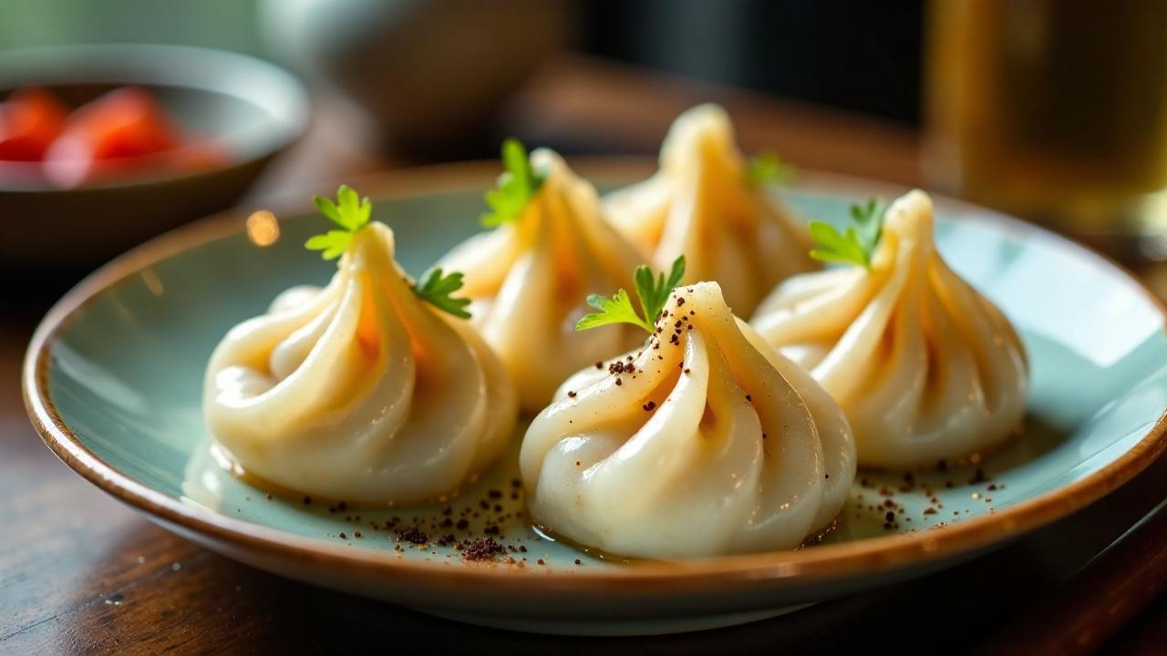
[[[435,191],[455,191],[488,187],[497,175],[497,162],[462,162],[401,169],[355,177],[351,183],[370,197],[392,200],[415,197]],[[593,180],[617,179],[651,170],[644,158],[581,158],[576,170]],[[908,188],[827,173],[801,172],[799,190],[846,193],[857,197],[873,190],[888,197]],[[307,197],[307,196],[305,196]],[[1085,246],[1020,219],[963,201],[932,195],[938,208],[976,212],[976,221],[998,224],[1027,237],[1051,240],[1086,258],[1095,266],[1119,274],[1159,310],[1167,327],[1167,306],[1121,265]],[[305,211],[301,211],[305,210]],[[307,214],[306,204],[292,207],[286,216]],[[232,550],[273,553],[282,561],[327,567],[352,575],[383,577],[396,585],[453,586],[491,591],[518,591],[529,594],[554,591],[644,594],[652,589],[725,589],[727,587],[774,582],[817,585],[857,575],[874,575],[914,565],[939,563],[971,556],[994,544],[1020,537],[1081,509],[1118,488],[1145,469],[1167,451],[1167,410],[1146,434],[1114,461],[1099,470],[998,512],[948,524],[941,529],[897,533],[857,542],[819,545],[797,551],[776,551],[712,558],[643,561],[620,567],[582,568],[558,572],[544,567],[515,567],[497,564],[448,566],[397,559],[392,553],[371,549],[352,549],[319,538],[295,536],[190,507],[179,500],[132,480],[118,472],[72,433],[49,395],[48,364],[57,335],[77,312],[112,285],[142,268],[181,251],[243,231],[247,212],[231,210],[173,230],[118,257],[97,270],[69,291],[37,327],[26,354],[22,390],[29,418],[48,447],[70,468],[113,497],[139,509],[180,532],[207,536]],[[278,216],[279,212],[277,212]],[[1165,328],[1167,330],[1167,328]],[[461,564],[460,564],[461,565]]]

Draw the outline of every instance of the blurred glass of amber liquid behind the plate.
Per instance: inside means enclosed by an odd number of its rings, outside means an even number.
[[[932,183],[1167,258],[1167,1],[934,0],[925,47]]]

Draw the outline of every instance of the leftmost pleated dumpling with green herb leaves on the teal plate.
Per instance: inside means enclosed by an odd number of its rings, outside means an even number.
[[[323,288],[295,287],[231,329],[203,411],[243,469],[280,488],[365,503],[455,493],[509,441],[502,363],[463,321],[418,299],[371,223]]]

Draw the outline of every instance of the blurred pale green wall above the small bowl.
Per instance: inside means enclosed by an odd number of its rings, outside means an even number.
[[[61,43],[207,46],[261,55],[258,0],[0,0],[0,49]]]

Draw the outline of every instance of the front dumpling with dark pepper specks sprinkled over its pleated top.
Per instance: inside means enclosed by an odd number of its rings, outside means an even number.
[[[799,546],[855,473],[851,428],[715,282],[678,287],[649,344],[586,369],[531,424],[531,514],[609,553],[699,557]]]

